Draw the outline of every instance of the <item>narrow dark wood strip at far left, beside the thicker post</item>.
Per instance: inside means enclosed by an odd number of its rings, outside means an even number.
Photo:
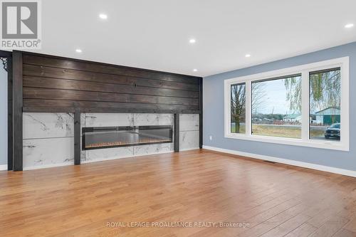
[[[12,57],[7,58],[7,169],[14,169],[12,129]]]

